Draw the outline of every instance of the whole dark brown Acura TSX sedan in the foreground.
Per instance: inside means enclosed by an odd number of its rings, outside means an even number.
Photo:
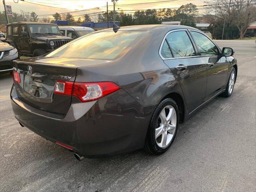
[[[21,126],[78,160],[143,147],[162,154],[179,123],[232,94],[233,54],[187,26],[101,30],[16,61],[12,108]]]

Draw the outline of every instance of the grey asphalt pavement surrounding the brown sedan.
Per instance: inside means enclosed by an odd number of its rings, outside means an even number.
[[[12,77],[0,76],[0,191],[256,191],[256,44],[216,41],[236,50],[234,94],[217,97],[181,124],[161,156],[143,150],[78,162],[15,120]]]

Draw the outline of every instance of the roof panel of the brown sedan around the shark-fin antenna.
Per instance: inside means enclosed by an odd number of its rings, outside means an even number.
[[[157,25],[134,25],[134,26],[125,26],[120,27],[119,30],[154,30],[156,28],[168,28],[168,30],[174,30],[174,29],[193,29],[198,30],[196,28],[190,27],[190,26],[184,26],[184,25],[165,25],[165,24],[157,24]],[[99,30],[97,32],[101,31],[112,31],[112,28]],[[199,31],[199,30],[198,30]]]

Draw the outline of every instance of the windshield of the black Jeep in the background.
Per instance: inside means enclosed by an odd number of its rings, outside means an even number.
[[[28,28],[31,34],[40,35],[61,35],[58,26],[51,24],[29,24]]]

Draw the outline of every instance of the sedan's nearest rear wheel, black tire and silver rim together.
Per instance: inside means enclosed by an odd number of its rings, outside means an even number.
[[[171,98],[162,100],[150,120],[144,148],[150,154],[166,152],[176,136],[179,110]]]

